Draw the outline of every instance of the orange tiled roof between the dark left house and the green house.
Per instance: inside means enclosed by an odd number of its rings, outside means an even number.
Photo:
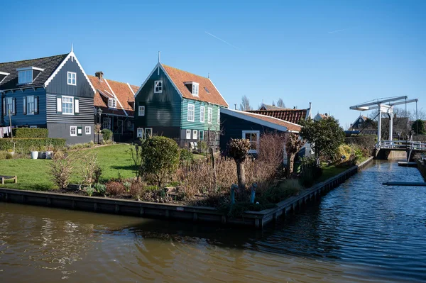
[[[98,77],[90,76],[88,75],[90,82],[92,82],[94,89],[96,89],[96,93],[94,94],[94,106],[95,107],[102,107],[103,113],[115,113],[119,115],[125,115],[124,111],[121,109],[121,106],[118,101],[120,101],[121,105],[123,106],[124,110],[127,112],[129,116],[133,116],[133,106],[129,104],[129,102],[134,102],[134,96],[133,92],[129,88],[129,85],[125,82],[116,82],[111,79],[107,79],[107,82],[104,79],[99,79]],[[112,91],[114,91],[114,94],[117,98],[117,109],[114,109],[114,111],[108,111],[108,104],[107,102],[102,99],[102,94],[106,94],[107,96],[113,96],[111,94],[111,89],[108,87],[111,87]],[[133,91],[137,91],[138,87],[131,85],[130,87],[133,89]],[[135,92],[136,92],[135,91]],[[118,111],[118,113],[117,113]]]

